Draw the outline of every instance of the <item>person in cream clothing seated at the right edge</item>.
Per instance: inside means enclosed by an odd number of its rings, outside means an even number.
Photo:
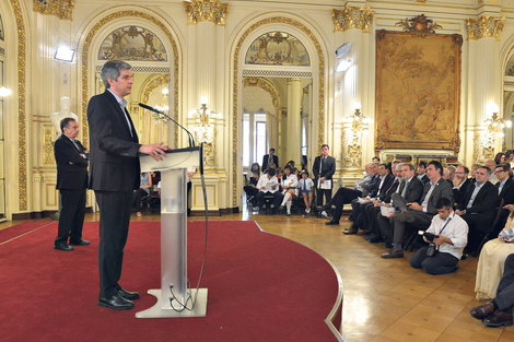
[[[514,216],[511,214],[498,238],[483,245],[478,259],[475,292],[477,299],[491,299],[497,294],[506,257],[514,253]]]

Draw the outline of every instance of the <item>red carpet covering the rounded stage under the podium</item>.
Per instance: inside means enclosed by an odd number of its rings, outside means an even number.
[[[132,222],[120,284],[139,291],[132,310],[97,305],[98,223],[84,226],[92,246],[52,249],[57,223],[27,222],[0,231],[2,341],[338,341],[330,318],[340,284],[319,255],[262,233],[253,222],[209,223],[201,287],[207,317],[139,319],[160,288],[160,222]],[[26,233],[25,235],[20,236]],[[188,276],[196,282],[205,223],[188,223]],[[338,296],[339,295],[339,296]],[[340,308],[340,307],[339,307]],[[336,326],[340,310],[334,310]]]

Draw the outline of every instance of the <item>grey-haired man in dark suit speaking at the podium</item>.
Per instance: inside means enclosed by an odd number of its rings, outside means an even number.
[[[90,188],[100,207],[98,305],[113,309],[130,309],[139,293],[124,290],[121,276],[124,248],[127,243],[132,191],[139,189],[138,153],[162,160],[167,146],[163,143],[141,145],[125,96],[131,93],[132,71],[120,60],[107,61],[102,68],[106,87],[87,106],[90,125]]]

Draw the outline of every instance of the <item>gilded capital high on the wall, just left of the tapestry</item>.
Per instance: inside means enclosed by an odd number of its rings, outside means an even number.
[[[332,10],[334,32],[344,32],[350,28],[359,28],[364,33],[370,32],[375,12],[370,7],[344,5],[344,10]]]

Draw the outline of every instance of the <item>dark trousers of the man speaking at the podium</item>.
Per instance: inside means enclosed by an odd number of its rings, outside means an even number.
[[[98,272],[100,297],[110,297],[119,290],[127,244],[132,190],[126,192],[95,191],[100,207]]]

